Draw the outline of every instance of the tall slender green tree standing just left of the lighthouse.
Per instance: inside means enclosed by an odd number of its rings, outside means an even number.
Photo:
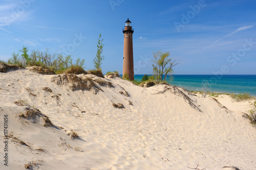
[[[94,67],[96,69],[101,69],[102,60],[104,60],[104,56],[102,56],[103,52],[103,39],[101,39],[101,33],[99,34],[98,44],[97,44],[97,54],[96,57],[93,59]]]

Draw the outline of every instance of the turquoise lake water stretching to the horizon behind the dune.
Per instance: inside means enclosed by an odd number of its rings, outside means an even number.
[[[135,75],[135,80],[141,80],[144,75]],[[250,93],[256,96],[256,75],[174,75],[170,83],[187,90],[201,91],[203,80],[211,84],[209,91],[229,93]]]

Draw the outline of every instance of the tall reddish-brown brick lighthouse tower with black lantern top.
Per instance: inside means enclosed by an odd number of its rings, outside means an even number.
[[[133,28],[129,18],[125,21],[123,29],[123,76],[129,76],[130,80],[134,80],[133,67]]]

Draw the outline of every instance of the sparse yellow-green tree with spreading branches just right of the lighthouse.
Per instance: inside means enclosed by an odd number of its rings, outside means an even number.
[[[172,77],[173,67],[178,63],[179,60],[174,58],[168,58],[169,52],[157,51],[153,52],[153,71],[156,76],[157,82],[165,81],[167,75]],[[164,77],[163,77],[164,76]]]

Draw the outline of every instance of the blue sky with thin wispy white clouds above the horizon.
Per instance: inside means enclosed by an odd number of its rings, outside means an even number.
[[[103,73],[122,73],[124,22],[134,28],[135,74],[151,74],[153,51],[179,58],[175,74],[256,74],[254,0],[1,0],[0,59],[23,45],[71,54],[93,69],[103,37]]]

